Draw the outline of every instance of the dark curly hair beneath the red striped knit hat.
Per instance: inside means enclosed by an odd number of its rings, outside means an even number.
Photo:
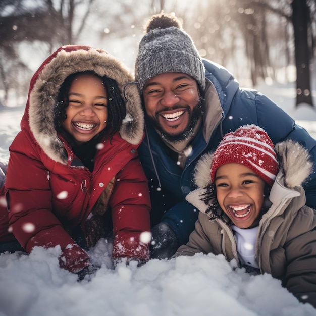
[[[220,207],[219,202],[216,197],[216,187],[213,183],[210,183],[204,188],[206,191],[204,194],[202,194],[202,201],[205,202],[205,204],[208,206],[206,213],[209,216],[210,221],[214,221],[215,219],[220,219],[224,221],[225,223],[231,225],[231,221],[227,220],[228,217],[225,216],[224,210]],[[269,201],[269,194],[270,194],[271,186],[266,183],[264,188],[264,195],[265,200],[262,204],[262,208],[260,210],[259,217],[267,213],[268,209],[271,206],[271,202]]]

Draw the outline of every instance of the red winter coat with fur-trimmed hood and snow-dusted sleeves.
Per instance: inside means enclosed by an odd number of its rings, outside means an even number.
[[[93,172],[57,135],[52,115],[65,78],[85,70],[115,79],[126,98],[126,118],[112,140],[102,140]],[[150,231],[147,179],[137,154],[144,121],[136,85],[125,86],[130,81],[133,77],[117,59],[86,46],[61,47],[40,66],[31,80],[22,131],[9,148],[3,190],[9,217],[0,208],[0,242],[15,236],[27,252],[60,245],[61,266],[77,272],[88,265],[88,255],[70,237],[71,230],[80,225],[85,232],[92,209],[102,215],[110,208],[113,259],[149,258],[149,244],[140,240],[142,232]]]

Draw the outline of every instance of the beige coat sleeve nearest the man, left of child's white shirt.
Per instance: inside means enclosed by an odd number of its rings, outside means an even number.
[[[193,256],[199,252],[204,254],[218,254],[216,253],[212,244],[212,240],[210,239],[214,234],[211,233],[209,227],[211,223],[208,221],[208,219],[209,218],[206,214],[199,212],[198,219],[195,223],[195,229],[190,234],[189,241],[186,245],[180,246],[173,257],[178,257],[181,255]],[[216,239],[218,239],[218,237]]]

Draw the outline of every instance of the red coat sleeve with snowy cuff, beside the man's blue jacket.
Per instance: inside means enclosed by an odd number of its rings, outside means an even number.
[[[117,174],[110,198],[113,221],[112,258],[149,259],[151,208],[147,178],[138,157],[130,160]]]

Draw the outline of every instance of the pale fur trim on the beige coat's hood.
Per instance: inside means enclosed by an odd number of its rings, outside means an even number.
[[[313,171],[308,151],[298,142],[294,142],[291,139],[277,143],[275,148],[280,166],[276,182],[286,189],[301,189],[302,183]],[[212,162],[213,154],[207,153],[203,155],[196,164],[194,181],[198,189],[189,193],[186,197],[201,212],[205,212],[208,208],[201,195],[205,192],[205,187],[212,183],[210,180],[210,163]]]

